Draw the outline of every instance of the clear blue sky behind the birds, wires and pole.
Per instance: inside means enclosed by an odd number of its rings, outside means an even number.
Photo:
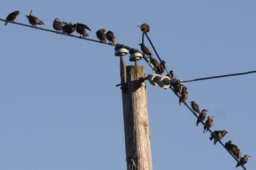
[[[159,54],[182,80],[256,68],[255,1],[1,1],[0,18],[20,10],[44,20],[81,22],[92,32],[115,32],[117,43],[140,48],[148,33]],[[125,169],[119,59],[113,46],[0,25],[0,169]],[[77,35],[77,33],[74,33]],[[145,42],[147,46],[149,43]],[[152,50],[152,48],[150,48]],[[125,56],[127,65],[129,56]],[[147,74],[153,73],[144,60]],[[188,101],[227,129],[256,168],[256,75],[187,83]],[[170,90],[147,82],[154,169],[234,169],[236,161],[209,140],[202,125]],[[239,167],[238,169],[241,169]]]

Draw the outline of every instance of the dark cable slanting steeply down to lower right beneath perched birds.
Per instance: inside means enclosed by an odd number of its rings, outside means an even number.
[[[145,33],[145,34],[146,34],[146,36],[147,36],[147,33]],[[148,41],[150,41],[150,38],[149,38],[148,36],[147,36],[147,38],[148,38]],[[154,52],[156,53],[158,59],[161,61],[161,58],[159,57],[158,53],[156,52],[156,48],[154,48],[154,45],[152,44],[152,41],[150,41],[150,44],[151,44],[152,48],[154,49]],[[167,71],[166,66],[164,66],[164,67],[165,67],[165,70]],[[168,71],[167,71],[167,73],[168,73]],[[169,73],[168,73],[168,74],[169,74]],[[183,82],[184,82],[184,81],[183,81]],[[173,90],[173,88],[172,88],[171,86],[170,86],[170,89],[174,92],[174,94],[175,94],[177,97],[179,97],[180,101],[182,101],[182,103],[185,104],[185,106],[193,113],[193,115],[195,115],[195,117],[198,118],[198,115],[196,115],[196,113],[191,109],[191,107],[189,107],[189,105],[188,105],[185,101],[183,101],[183,100],[181,99],[181,97],[179,96],[179,94],[177,94],[177,93]],[[199,118],[199,120],[200,120],[200,118]],[[200,120],[200,122],[205,126],[205,123],[204,123],[202,120]],[[234,155],[232,155],[232,153],[231,153],[231,152],[226,148],[226,146],[217,138],[217,136],[211,131],[211,129],[208,128],[207,126],[205,126],[205,127],[206,127],[207,130],[212,134],[212,136],[213,136],[215,139],[217,139],[217,140],[219,141],[219,143],[223,146],[223,148],[225,148],[225,150],[227,150],[227,152],[237,161],[237,163],[240,164],[240,165],[243,167],[244,170],[246,170],[246,167],[244,167],[244,166],[240,163],[240,161],[239,161]]]

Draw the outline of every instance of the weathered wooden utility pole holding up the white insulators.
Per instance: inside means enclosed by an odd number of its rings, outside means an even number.
[[[120,67],[127,170],[152,170],[145,67]]]

